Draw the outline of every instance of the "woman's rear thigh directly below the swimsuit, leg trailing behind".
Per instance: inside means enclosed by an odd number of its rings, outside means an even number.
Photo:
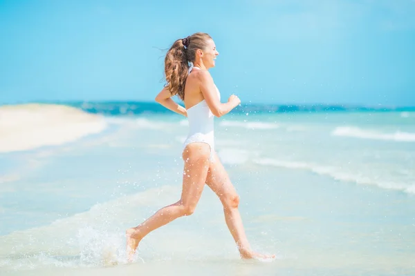
[[[183,204],[196,205],[199,201],[208,175],[209,158],[210,146],[205,143],[192,143],[183,150]]]

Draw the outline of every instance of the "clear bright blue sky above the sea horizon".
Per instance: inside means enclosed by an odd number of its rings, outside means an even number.
[[[153,101],[208,32],[223,101],[415,106],[415,0],[0,0],[0,103]]]

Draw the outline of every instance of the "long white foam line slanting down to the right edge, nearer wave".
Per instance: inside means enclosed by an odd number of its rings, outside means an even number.
[[[311,164],[299,161],[284,161],[278,159],[255,159],[255,164],[264,166],[275,166],[280,168],[301,169],[315,172],[317,175],[325,175],[332,177],[335,180],[353,182],[356,184],[375,185],[380,188],[401,190],[405,193],[415,194],[415,185],[397,183],[394,181],[380,181],[365,175],[353,172],[344,172],[342,168],[335,166],[322,166],[320,164]]]

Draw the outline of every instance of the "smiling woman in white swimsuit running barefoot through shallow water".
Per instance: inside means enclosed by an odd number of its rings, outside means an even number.
[[[178,217],[192,215],[198,203],[203,186],[208,184],[223,204],[225,221],[236,242],[241,258],[268,259],[274,255],[255,253],[250,248],[239,214],[239,196],[230,182],[214,150],[214,116],[221,117],[241,102],[237,96],[230,96],[227,103],[220,102],[208,69],[214,67],[219,55],[212,37],[195,33],[185,39],[178,39],[165,57],[165,78],[167,86],[157,95],[156,101],[169,110],[188,118],[190,132],[183,146],[183,190],[181,199],[165,206],[139,226],[127,230],[127,255],[131,257],[138,243],[151,231]],[[189,62],[194,66],[190,68]],[[171,97],[178,95],[185,108]]]

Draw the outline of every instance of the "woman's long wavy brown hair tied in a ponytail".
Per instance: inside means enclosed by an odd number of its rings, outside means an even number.
[[[196,50],[204,50],[208,46],[208,39],[212,39],[205,32],[196,32],[184,39],[174,41],[165,57],[165,79],[167,87],[172,94],[185,99],[185,84],[189,75],[189,62],[194,62]]]

